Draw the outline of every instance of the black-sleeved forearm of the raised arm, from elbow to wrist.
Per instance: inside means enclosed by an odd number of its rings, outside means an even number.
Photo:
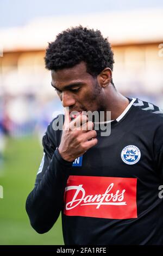
[[[30,192],[26,210],[32,227],[38,233],[52,228],[64,202],[64,191],[72,162],[61,158],[55,150],[49,166],[40,183]]]

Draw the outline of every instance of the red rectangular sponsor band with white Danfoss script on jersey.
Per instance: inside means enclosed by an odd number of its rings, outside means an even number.
[[[64,214],[97,218],[137,218],[136,178],[70,176]]]

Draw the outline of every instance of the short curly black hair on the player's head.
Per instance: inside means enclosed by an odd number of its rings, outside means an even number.
[[[113,69],[113,56],[108,39],[99,30],[78,26],[62,31],[48,44],[45,64],[46,69],[57,71],[84,61],[87,72],[96,77],[105,68]]]

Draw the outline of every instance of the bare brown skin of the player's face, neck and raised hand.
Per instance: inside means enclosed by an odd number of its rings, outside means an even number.
[[[128,99],[112,86],[111,77],[110,68],[105,68],[96,78],[93,77],[87,72],[84,62],[73,68],[52,71],[52,86],[65,108],[64,129],[58,148],[63,159],[73,161],[97,144],[93,123],[82,114],[70,121],[70,112],[111,111],[113,120],[128,106]],[[77,130],[74,124],[81,126],[81,129]]]

